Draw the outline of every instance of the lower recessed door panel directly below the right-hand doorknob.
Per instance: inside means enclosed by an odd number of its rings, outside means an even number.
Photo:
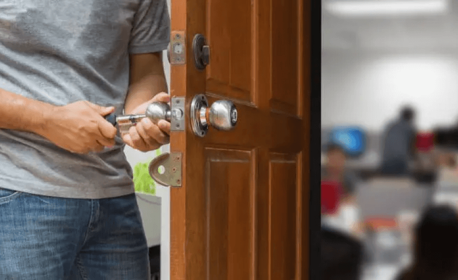
[[[207,149],[206,154],[208,279],[249,279],[255,188],[251,152]]]

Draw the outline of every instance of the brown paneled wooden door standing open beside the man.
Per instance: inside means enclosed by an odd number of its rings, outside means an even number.
[[[183,154],[182,187],[170,192],[172,280],[308,279],[304,10],[302,0],[171,3],[186,56],[171,66],[170,95],[187,104],[185,131],[170,137],[170,151]],[[193,60],[198,33],[211,50],[204,71]],[[235,130],[194,135],[189,103],[201,93],[210,105],[235,103]]]

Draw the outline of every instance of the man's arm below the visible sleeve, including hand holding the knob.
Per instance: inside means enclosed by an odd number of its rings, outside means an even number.
[[[154,101],[169,102],[167,84],[162,65],[162,53],[130,55],[130,82],[124,110],[126,114],[144,114],[148,104]],[[153,124],[144,118],[129,133],[124,142],[134,149],[146,152],[158,149],[169,142],[170,123],[161,120]]]

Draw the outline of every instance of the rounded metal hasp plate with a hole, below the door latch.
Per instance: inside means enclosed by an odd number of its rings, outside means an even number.
[[[181,187],[181,153],[163,153],[149,163],[151,178],[163,186]]]

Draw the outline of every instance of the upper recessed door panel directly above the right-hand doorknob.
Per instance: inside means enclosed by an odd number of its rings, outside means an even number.
[[[227,5],[207,0],[206,5],[206,34],[212,50],[206,91],[251,101],[251,2],[234,0]]]

